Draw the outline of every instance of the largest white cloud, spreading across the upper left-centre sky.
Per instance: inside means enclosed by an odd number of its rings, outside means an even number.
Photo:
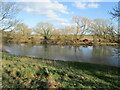
[[[45,2],[26,2],[20,5],[20,8],[28,13],[38,14],[45,16],[48,20],[67,21],[60,18],[60,14],[69,14],[67,6],[64,6],[58,2],[51,2],[45,0]]]

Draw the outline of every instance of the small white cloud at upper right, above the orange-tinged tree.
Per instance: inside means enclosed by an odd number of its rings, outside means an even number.
[[[92,0],[93,1],[93,0]],[[88,9],[88,8],[98,8],[99,4],[97,3],[85,3],[85,2],[75,2],[74,6],[79,9]]]

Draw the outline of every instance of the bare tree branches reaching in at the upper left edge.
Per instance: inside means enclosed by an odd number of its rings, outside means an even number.
[[[0,31],[7,29],[12,30],[18,23],[15,19],[15,15],[19,12],[14,2],[2,2],[0,1]]]

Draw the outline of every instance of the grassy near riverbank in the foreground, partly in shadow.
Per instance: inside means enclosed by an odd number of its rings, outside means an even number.
[[[117,67],[2,54],[3,88],[120,89]]]

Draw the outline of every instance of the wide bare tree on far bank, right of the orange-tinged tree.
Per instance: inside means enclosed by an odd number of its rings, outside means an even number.
[[[94,23],[91,25],[91,32],[94,36],[99,38],[103,38],[104,40],[108,39],[108,36],[114,36],[114,25],[109,20],[104,19],[94,19]]]

